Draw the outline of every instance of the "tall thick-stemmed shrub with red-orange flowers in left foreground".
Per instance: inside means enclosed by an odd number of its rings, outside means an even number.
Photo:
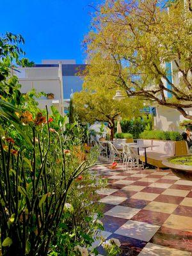
[[[4,102],[0,104],[3,106]],[[12,138],[0,136],[2,253],[5,256],[45,256],[56,231],[63,220],[67,220],[65,212],[72,214],[66,211],[65,204],[72,182],[92,163],[83,161],[79,165],[76,161],[70,164],[70,159],[65,159],[63,154],[60,135],[56,133],[54,139],[51,138],[49,122],[42,113],[36,115],[29,127],[21,125],[20,129],[31,129],[28,150],[21,144],[16,145]],[[51,164],[56,158],[60,159],[57,166]],[[70,196],[76,195],[70,192]]]

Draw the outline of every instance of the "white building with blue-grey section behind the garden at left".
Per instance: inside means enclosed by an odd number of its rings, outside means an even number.
[[[85,67],[84,64],[77,65],[76,60],[43,60],[35,67],[16,68],[15,75],[19,78],[21,93],[35,89],[54,95],[53,99],[37,99],[39,108],[55,106],[61,115],[65,115],[71,93],[82,89],[83,79],[79,73]]]

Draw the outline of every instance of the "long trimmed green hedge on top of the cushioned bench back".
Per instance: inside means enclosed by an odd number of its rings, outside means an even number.
[[[182,140],[182,135],[179,132],[164,132],[164,131],[144,131],[140,134],[141,139],[145,140]]]

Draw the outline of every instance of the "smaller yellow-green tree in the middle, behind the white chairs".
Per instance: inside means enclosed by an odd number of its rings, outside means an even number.
[[[90,124],[95,121],[108,122],[108,127],[111,130],[111,139],[113,139],[117,117],[119,115],[122,118],[139,116],[140,109],[143,108],[143,102],[138,99],[128,99],[127,97],[120,101],[113,100],[115,90],[106,86],[111,77],[105,75],[97,76],[99,70],[100,65],[86,68],[83,90],[73,95],[74,107],[82,122]]]

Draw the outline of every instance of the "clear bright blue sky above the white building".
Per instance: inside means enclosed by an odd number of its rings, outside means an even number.
[[[1,0],[0,33],[20,33],[26,57],[76,59],[83,63],[82,41],[90,30],[91,13],[101,0]]]

